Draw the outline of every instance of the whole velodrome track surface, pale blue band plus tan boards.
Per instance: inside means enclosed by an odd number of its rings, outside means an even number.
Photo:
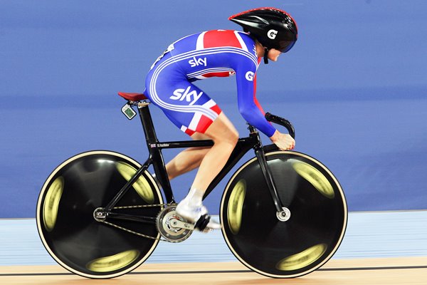
[[[427,211],[351,212],[335,256],[297,279],[270,279],[241,265],[221,232],[159,243],[145,264],[115,279],[65,271],[43,248],[34,219],[0,220],[0,284],[427,284]]]

